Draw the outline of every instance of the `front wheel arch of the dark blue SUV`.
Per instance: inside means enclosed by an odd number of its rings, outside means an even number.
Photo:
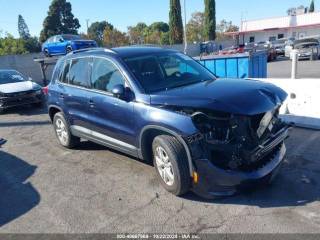
[[[163,134],[175,136],[182,143],[188,158],[187,160],[189,165],[190,176],[193,177],[192,156],[188,145],[178,133],[163,126],[147,125],[142,128],[139,135],[139,157],[141,157],[144,160],[149,159],[149,157],[152,156],[152,141],[154,137]]]

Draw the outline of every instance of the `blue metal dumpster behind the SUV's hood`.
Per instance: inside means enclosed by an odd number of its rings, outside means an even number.
[[[266,78],[266,55],[266,51],[208,55],[202,56],[200,63],[221,77]]]

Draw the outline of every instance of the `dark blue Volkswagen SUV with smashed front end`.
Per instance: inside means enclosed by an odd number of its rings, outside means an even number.
[[[217,198],[268,183],[292,129],[278,118],[281,88],[216,77],[158,47],[73,51],[57,61],[45,92],[63,146],[84,138],[153,161],[175,195]]]

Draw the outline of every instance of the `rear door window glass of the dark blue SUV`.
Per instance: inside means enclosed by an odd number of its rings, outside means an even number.
[[[87,58],[74,58],[71,60],[69,84],[86,87],[85,67]]]

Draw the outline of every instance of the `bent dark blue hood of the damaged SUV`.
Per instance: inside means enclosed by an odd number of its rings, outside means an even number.
[[[286,96],[284,90],[271,83],[241,78],[217,78],[214,81],[153,93],[150,95],[150,103],[253,115],[273,109]]]

